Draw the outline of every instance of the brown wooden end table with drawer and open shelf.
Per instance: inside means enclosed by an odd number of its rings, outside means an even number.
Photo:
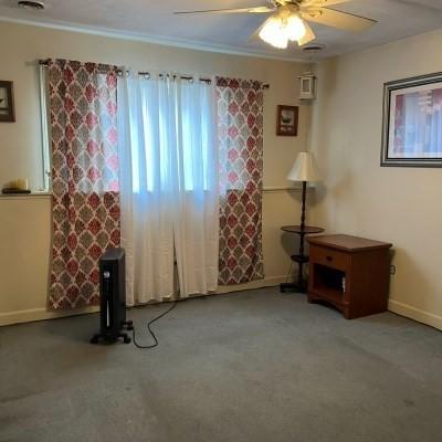
[[[308,302],[325,301],[347,319],[387,311],[391,243],[346,234],[308,243]]]

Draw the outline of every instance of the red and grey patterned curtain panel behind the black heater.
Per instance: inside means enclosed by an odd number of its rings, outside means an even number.
[[[49,305],[99,302],[98,261],[119,245],[117,70],[51,60],[48,67],[53,248]]]

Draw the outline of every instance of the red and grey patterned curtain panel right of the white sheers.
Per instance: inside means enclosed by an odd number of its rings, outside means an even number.
[[[264,277],[262,83],[217,77],[220,146],[219,283]]]

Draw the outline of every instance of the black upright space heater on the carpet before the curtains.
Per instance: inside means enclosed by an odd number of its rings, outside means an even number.
[[[130,338],[123,329],[131,330],[131,320],[126,320],[125,251],[107,249],[99,260],[99,333],[91,338],[92,344],[115,343]]]

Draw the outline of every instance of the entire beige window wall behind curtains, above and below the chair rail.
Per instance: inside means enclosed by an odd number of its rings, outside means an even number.
[[[282,242],[280,227],[299,215],[298,194],[283,189],[285,175],[297,151],[307,146],[311,108],[301,106],[298,137],[276,137],[276,105],[298,104],[296,75],[308,65],[2,22],[0,39],[0,78],[14,82],[17,114],[15,124],[0,124],[0,185],[28,177],[33,189],[41,187],[38,59],[99,61],[134,71],[221,74],[270,83],[264,102],[264,186],[273,190],[264,193],[263,201],[263,284],[281,281],[292,250],[287,241]],[[48,197],[0,198],[0,324],[48,317]]]

